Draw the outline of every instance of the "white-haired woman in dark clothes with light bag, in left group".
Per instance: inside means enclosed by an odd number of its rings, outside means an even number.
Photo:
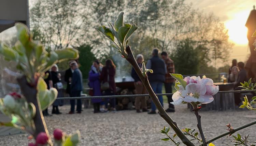
[[[62,92],[59,91],[60,89],[63,89],[63,85],[60,82],[61,81],[61,75],[58,71],[59,71],[58,66],[56,64],[54,64],[51,68],[53,87],[56,88],[57,91],[58,91],[58,96],[57,97],[63,97],[62,94],[61,94]],[[63,105],[62,100],[55,100],[54,103],[53,103],[52,114],[61,114],[61,112],[59,112],[58,106],[62,106],[62,105]]]

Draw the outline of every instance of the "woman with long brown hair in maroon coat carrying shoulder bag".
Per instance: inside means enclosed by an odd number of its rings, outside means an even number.
[[[114,65],[111,59],[106,60],[106,65],[102,68],[100,74],[100,80],[102,83],[108,83],[109,88],[102,91],[103,95],[115,95],[116,93],[116,83],[115,83],[115,74],[116,74],[116,66]],[[116,111],[115,98],[110,98],[105,100],[105,107],[108,108],[108,103],[110,103],[110,108],[113,111]]]

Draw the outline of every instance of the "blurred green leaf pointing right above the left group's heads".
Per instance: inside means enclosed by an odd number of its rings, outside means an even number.
[[[58,62],[79,58],[78,50],[72,48],[56,50],[55,53],[58,55]]]

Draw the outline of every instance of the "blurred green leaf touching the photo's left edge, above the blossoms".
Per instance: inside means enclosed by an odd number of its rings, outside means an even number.
[[[12,48],[8,47],[8,45],[6,44],[0,44],[0,54],[4,56],[5,60],[18,61],[18,53],[14,51]]]

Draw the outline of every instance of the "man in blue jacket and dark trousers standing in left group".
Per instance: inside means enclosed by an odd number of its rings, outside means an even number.
[[[81,97],[81,92],[83,91],[83,77],[81,71],[78,69],[76,62],[71,63],[71,69],[74,71],[72,74],[72,80],[70,85],[70,96],[71,97]],[[75,110],[75,99],[70,99],[70,112],[73,114]],[[82,102],[81,99],[77,99],[76,105],[77,113],[82,111]]]

